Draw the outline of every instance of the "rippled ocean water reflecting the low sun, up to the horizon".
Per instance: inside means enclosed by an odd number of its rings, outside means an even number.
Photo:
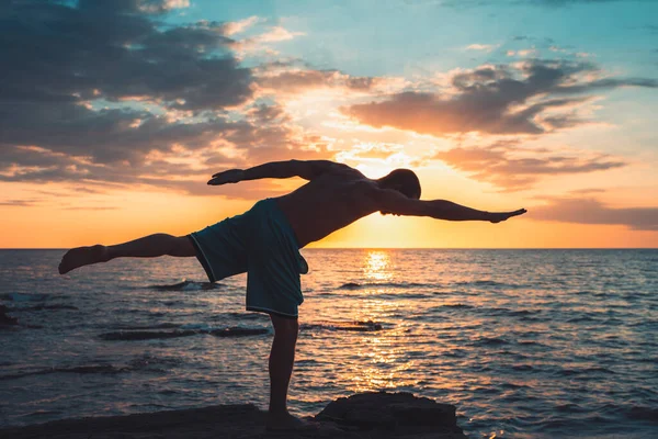
[[[658,437],[658,250],[304,249],[291,412],[354,392],[457,406],[479,437]],[[269,318],[194,258],[60,277],[0,250],[0,427],[266,408]]]

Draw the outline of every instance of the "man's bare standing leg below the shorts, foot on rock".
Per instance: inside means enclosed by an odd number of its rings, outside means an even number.
[[[295,345],[299,322],[296,318],[270,314],[274,326],[274,341],[270,353],[270,409],[268,428],[295,428],[304,423],[287,410],[287,390],[295,363]]]

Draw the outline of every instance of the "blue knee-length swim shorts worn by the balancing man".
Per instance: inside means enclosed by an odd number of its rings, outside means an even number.
[[[247,309],[296,318],[304,302],[299,274],[308,264],[273,199],[190,234],[211,282],[247,272]]]

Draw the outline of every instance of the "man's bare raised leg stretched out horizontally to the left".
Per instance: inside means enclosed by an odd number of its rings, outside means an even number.
[[[68,250],[59,263],[59,274],[91,263],[106,262],[114,258],[156,258],[158,256],[195,256],[188,236],[155,234],[115,246],[95,245]]]

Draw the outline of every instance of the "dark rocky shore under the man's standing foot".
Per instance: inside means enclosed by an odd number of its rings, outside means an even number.
[[[251,404],[218,405],[129,416],[58,420],[0,429],[0,438],[192,439],[350,438],[462,439],[455,407],[410,393],[360,393],[338,398],[304,431],[268,432],[265,412]]]

